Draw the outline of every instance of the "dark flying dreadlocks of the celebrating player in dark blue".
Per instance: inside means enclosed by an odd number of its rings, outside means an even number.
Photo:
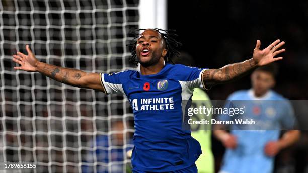
[[[136,46],[137,46],[137,38],[139,37],[139,31],[144,31],[147,29],[140,29],[140,28],[131,28],[134,29],[129,32],[129,34],[133,34],[134,38],[130,41],[130,44],[127,46],[131,48],[131,57],[129,58],[129,62],[131,64],[135,64],[138,66],[138,59],[137,59],[137,54],[136,54]],[[172,63],[171,58],[172,57],[179,57],[180,56],[180,47],[182,46],[182,43],[177,41],[176,38],[178,35],[175,33],[175,30],[163,30],[159,28],[148,28],[157,31],[158,33],[161,34],[162,39],[165,42],[165,48],[167,50],[167,54],[164,57],[164,60],[167,63]]]

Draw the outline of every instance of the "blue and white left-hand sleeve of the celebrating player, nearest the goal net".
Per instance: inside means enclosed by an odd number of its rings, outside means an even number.
[[[126,71],[121,71],[117,73],[111,73],[111,74],[100,74],[101,83],[104,88],[104,92],[106,94],[116,94],[116,93],[122,93],[123,91],[123,79],[126,78]]]

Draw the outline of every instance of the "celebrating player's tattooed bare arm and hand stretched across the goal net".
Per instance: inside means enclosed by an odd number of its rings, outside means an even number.
[[[13,55],[13,61],[21,65],[19,67],[14,67],[14,69],[29,72],[40,72],[47,77],[65,84],[104,92],[99,73],[86,73],[77,69],[63,68],[46,64],[35,58],[35,55],[29,48],[29,45],[26,46],[26,50],[28,55],[21,52],[17,52],[17,55]]]

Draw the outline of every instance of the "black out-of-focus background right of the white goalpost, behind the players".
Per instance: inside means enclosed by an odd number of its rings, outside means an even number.
[[[261,49],[276,39],[286,42],[275,91],[290,100],[307,100],[307,1],[168,1],[168,29],[176,29],[182,51],[193,56],[195,66],[220,68],[252,57],[256,41]],[[236,90],[249,89],[250,78],[218,85],[208,91],[212,100],[224,100]],[[275,172],[308,170],[308,135],[302,132],[294,146],[275,160]],[[212,138],[215,169],[224,148]]]

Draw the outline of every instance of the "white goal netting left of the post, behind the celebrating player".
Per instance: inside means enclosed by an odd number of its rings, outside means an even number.
[[[133,114],[122,95],[79,89],[15,71],[29,44],[43,62],[86,72],[129,65],[137,0],[0,1],[0,162],[33,162],[18,172],[125,172]],[[1,170],[0,170],[1,171]]]

